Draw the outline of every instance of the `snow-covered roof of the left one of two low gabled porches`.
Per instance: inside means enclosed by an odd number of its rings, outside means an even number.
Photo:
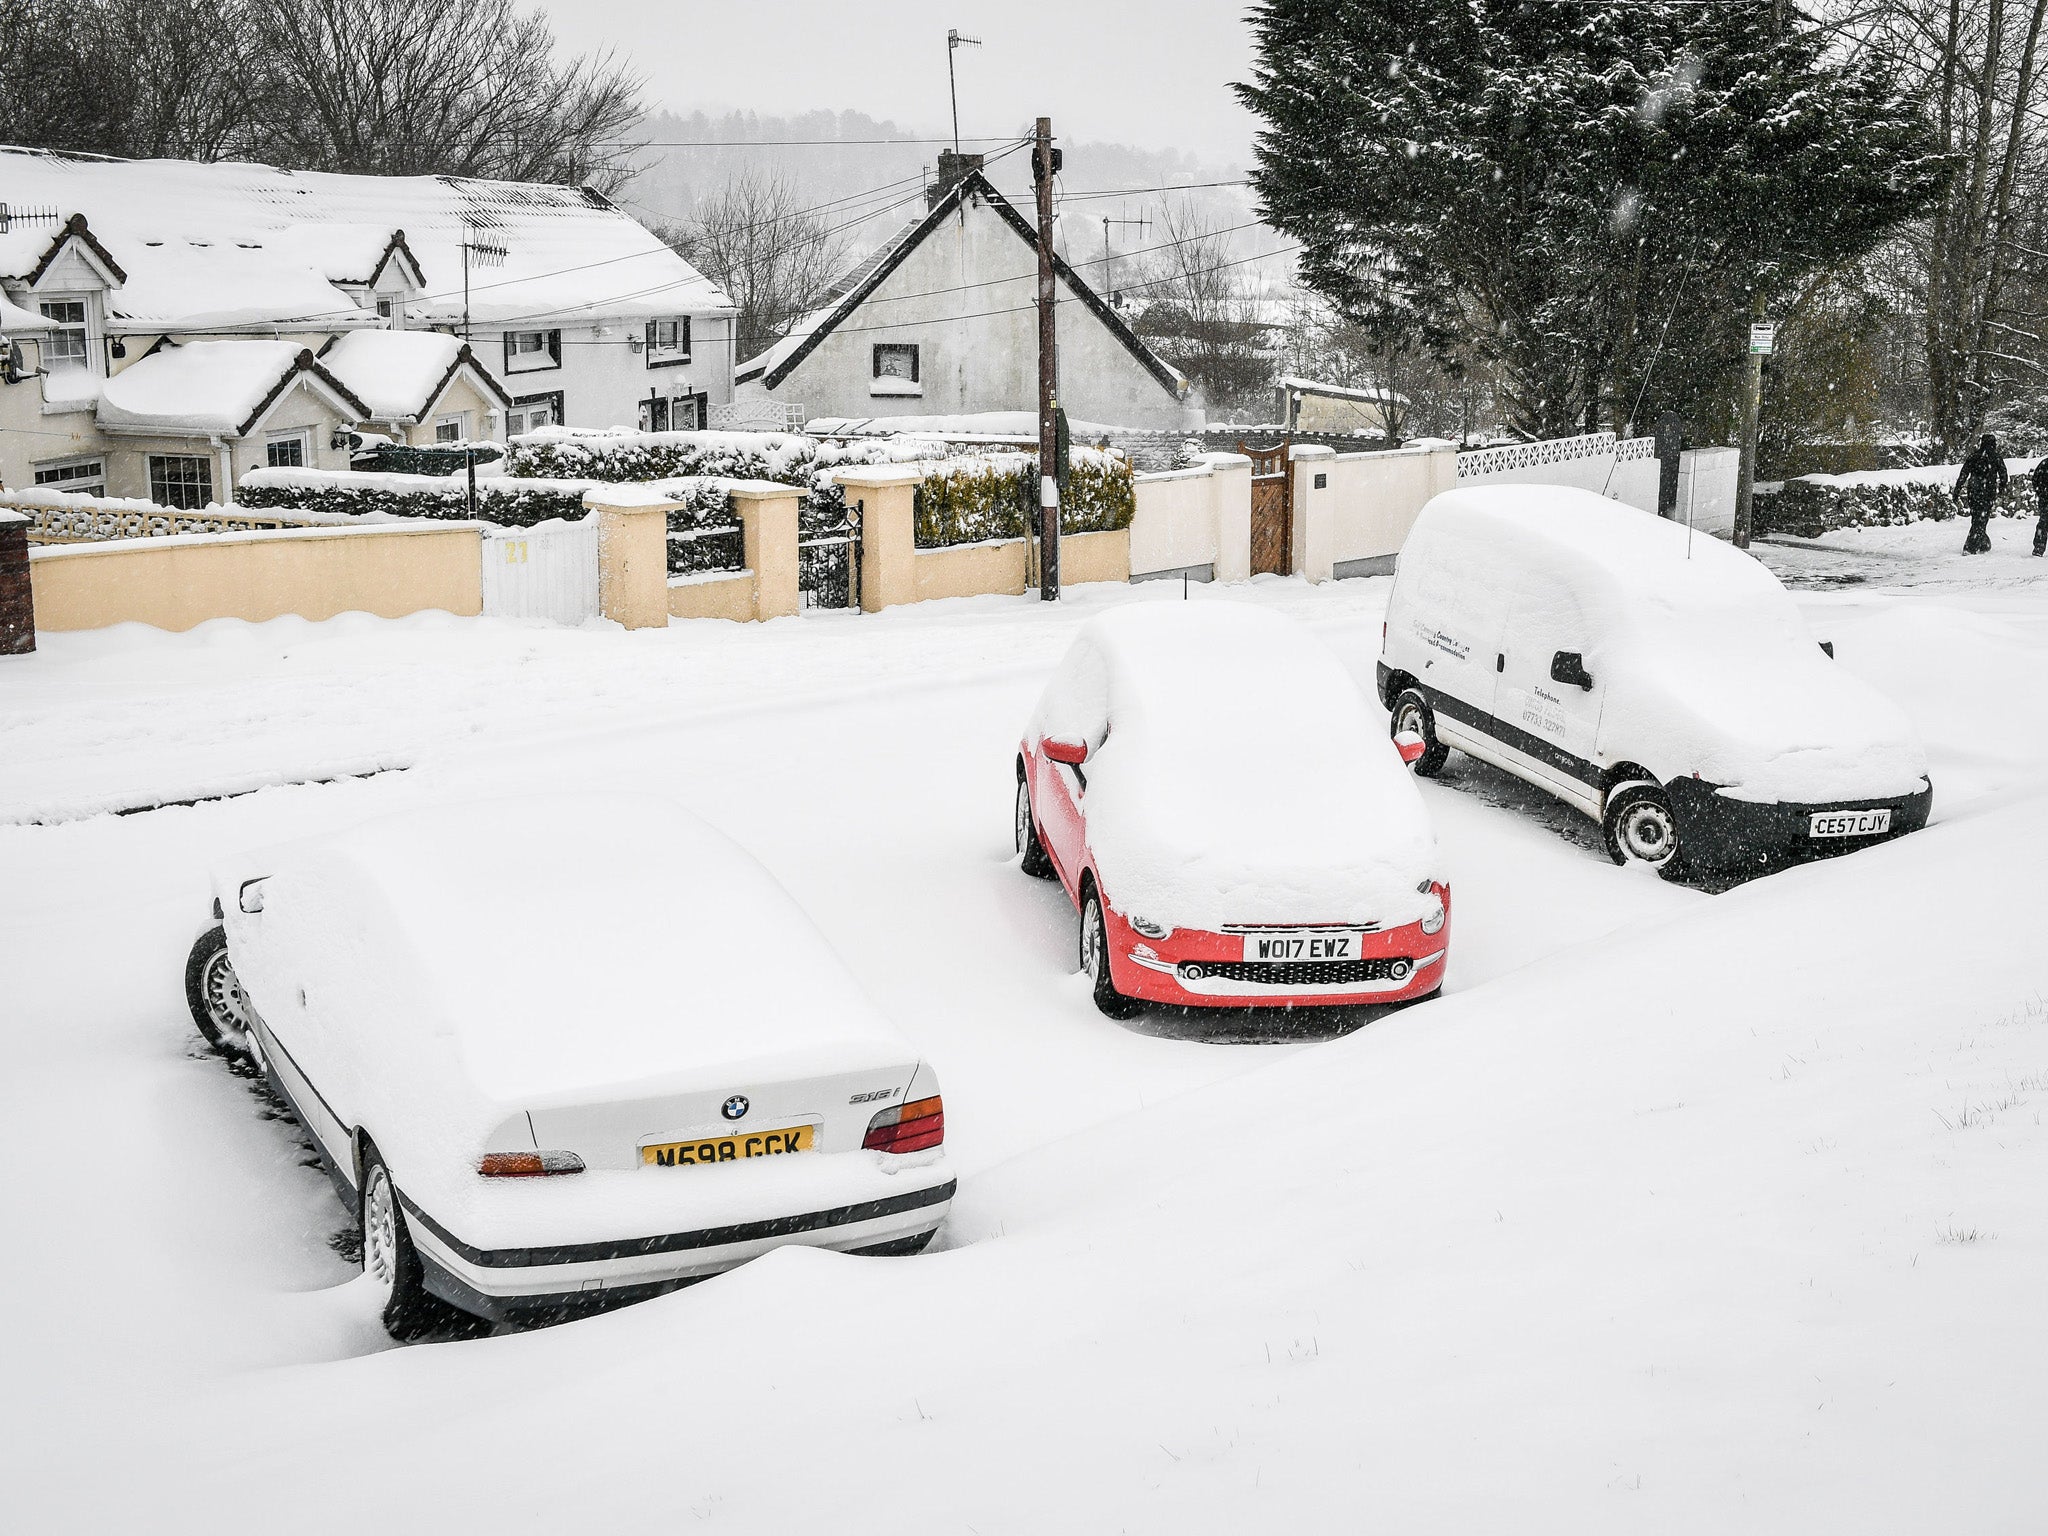
[[[100,385],[98,424],[109,432],[242,436],[301,377],[338,410],[371,414],[297,342],[233,338],[160,346],[137,358]]]

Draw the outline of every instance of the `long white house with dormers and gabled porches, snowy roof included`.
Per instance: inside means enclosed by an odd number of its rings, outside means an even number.
[[[0,483],[227,500],[350,434],[702,424],[733,307],[588,188],[0,150]]]

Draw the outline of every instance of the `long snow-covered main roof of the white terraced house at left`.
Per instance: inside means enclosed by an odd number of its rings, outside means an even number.
[[[399,252],[424,285],[408,313],[453,322],[465,242],[506,252],[471,268],[473,322],[731,311],[715,283],[578,186],[47,150],[0,150],[0,186],[8,201],[68,215],[59,227],[16,221],[0,233],[0,279],[31,281],[59,244],[90,242],[125,276],[109,293],[115,332],[375,324],[334,285],[369,283]]]

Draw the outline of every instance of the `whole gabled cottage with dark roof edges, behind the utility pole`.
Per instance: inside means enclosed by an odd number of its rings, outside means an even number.
[[[1188,379],[1133,334],[1065,260],[1053,262],[1059,399],[1067,416],[1200,426]],[[813,418],[1038,410],[1038,233],[979,170],[831,289],[827,303],[739,365],[739,397]]]

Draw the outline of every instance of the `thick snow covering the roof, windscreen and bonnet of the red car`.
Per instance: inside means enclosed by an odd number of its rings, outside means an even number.
[[[1391,928],[1430,905],[1421,795],[1358,680],[1292,618],[1217,598],[1112,608],[1032,731],[1092,748],[1087,840],[1120,911]]]

